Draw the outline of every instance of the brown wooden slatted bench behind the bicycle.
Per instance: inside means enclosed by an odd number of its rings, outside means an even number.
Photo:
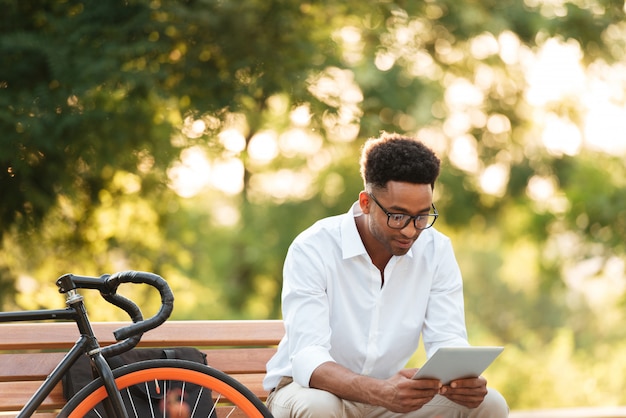
[[[101,345],[115,342],[124,325],[94,323]],[[139,347],[197,347],[212,367],[243,383],[265,400],[265,364],[284,334],[282,321],[168,321],[143,335]],[[0,417],[15,417],[42,381],[78,339],[73,322],[0,324]],[[45,400],[37,418],[56,417],[65,404],[61,384]]]

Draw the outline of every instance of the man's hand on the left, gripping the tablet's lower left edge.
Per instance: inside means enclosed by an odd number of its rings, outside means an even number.
[[[401,370],[387,379],[381,394],[381,406],[393,412],[407,413],[420,409],[439,393],[439,380],[414,380],[414,374],[415,370]]]

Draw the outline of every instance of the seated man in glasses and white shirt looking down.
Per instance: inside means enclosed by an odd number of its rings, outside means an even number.
[[[431,228],[439,159],[421,142],[383,134],[366,142],[360,163],[358,202],[301,233],[287,253],[286,334],[264,381],[272,414],[508,416],[483,377],[443,386],[403,369],[420,336],[428,356],[468,345],[459,267],[449,239]]]

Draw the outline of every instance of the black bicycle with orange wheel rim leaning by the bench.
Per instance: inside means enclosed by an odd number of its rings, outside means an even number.
[[[159,311],[144,320],[141,309],[133,301],[117,293],[118,287],[124,283],[147,284],[156,288],[161,295]],[[140,392],[150,396],[156,390],[162,395],[162,399],[169,400],[170,391],[175,395],[176,402],[180,402],[179,411],[182,410],[184,399],[185,418],[194,417],[195,406],[207,401],[213,404],[209,417],[218,416],[215,411],[219,411],[220,417],[222,413],[229,417],[272,417],[265,404],[243,384],[204,364],[178,359],[157,359],[114,369],[109,366],[106,358],[132,349],[139,343],[144,332],[163,324],[170,316],[174,295],[162,277],[138,271],[124,271],[100,277],[65,274],[56,280],[56,285],[59,292],[66,295],[65,309],[0,312],[0,322],[70,320],[76,323],[80,334],[77,342],[24,405],[17,418],[34,414],[70,367],[83,355],[89,356],[99,377],[67,401],[58,415],[61,418],[138,417],[132,403],[133,397],[130,396],[130,391],[136,387],[145,389],[133,390],[135,397]],[[107,302],[128,313],[133,323],[114,331],[117,343],[100,347],[78,289],[98,290]],[[196,399],[188,397],[192,392],[188,388],[191,387],[194,387],[193,393],[197,393]],[[155,408],[151,416],[165,417],[169,410],[164,407]]]

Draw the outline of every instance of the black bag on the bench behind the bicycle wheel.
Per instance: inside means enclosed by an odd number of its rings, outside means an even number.
[[[126,353],[122,353],[118,356],[113,356],[107,359],[107,362],[111,366],[112,369],[117,367],[136,363],[142,360],[153,360],[153,359],[181,359],[181,360],[189,360],[196,363],[207,364],[206,363],[206,355],[201,351],[192,348],[192,347],[177,347],[177,348],[142,348],[142,349],[133,349],[127,351]],[[91,362],[89,361],[89,357],[81,356],[76,363],[72,365],[69,372],[67,372],[63,376],[63,396],[65,396],[66,400],[69,400],[74,394],[80,391],[83,387],[87,386],[92,380],[94,380],[94,374],[96,372],[92,370]],[[150,383],[146,386],[144,385],[136,385],[130,387],[129,391],[122,392],[122,399],[124,400],[124,406],[128,411],[128,415],[131,417],[147,417],[147,416],[156,416],[163,417],[163,409],[166,407],[166,401],[169,402],[171,396],[175,396],[177,406],[180,403],[180,390],[181,384],[180,382],[170,382],[167,391],[157,390],[154,383]],[[141,387],[140,387],[141,386]],[[190,410],[196,408],[196,416],[210,417],[216,418],[215,411],[211,413],[213,408],[213,400],[211,397],[211,392],[204,389],[200,392],[200,387],[194,384],[186,383],[185,385],[185,393],[186,396],[183,398],[183,402],[185,399],[191,400],[191,405],[189,406]],[[148,393],[149,392],[149,393]],[[167,399],[164,399],[164,394],[168,393]],[[129,399],[129,396],[132,398],[132,401]],[[201,396],[200,402],[196,404],[196,399],[198,396]],[[97,408],[98,413],[102,417],[107,417],[104,410],[100,410],[100,407]],[[155,415],[153,415],[155,414]],[[167,414],[167,416],[172,416],[171,413]],[[97,418],[94,412],[87,414],[88,418]]]

